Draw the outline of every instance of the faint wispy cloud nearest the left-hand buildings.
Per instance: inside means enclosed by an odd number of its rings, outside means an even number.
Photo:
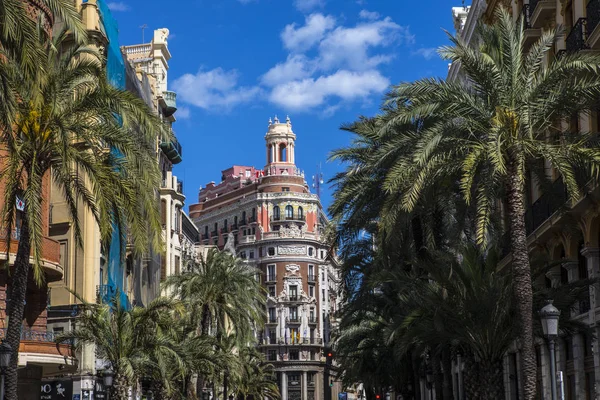
[[[239,74],[235,70],[225,71],[215,68],[185,74],[173,82],[173,89],[185,103],[205,110],[229,110],[232,107],[254,99],[258,87],[238,86]]]

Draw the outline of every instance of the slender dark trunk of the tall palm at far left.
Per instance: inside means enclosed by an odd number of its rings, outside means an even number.
[[[25,211],[25,214],[27,211]],[[21,326],[23,324],[23,313],[25,312],[25,296],[27,295],[27,280],[29,278],[29,257],[31,254],[31,242],[29,234],[29,223],[23,218],[21,223],[21,235],[13,277],[8,281],[8,329],[6,330],[6,341],[13,349],[10,365],[6,371],[6,399],[17,400],[17,368],[19,362],[19,344],[21,343]]]

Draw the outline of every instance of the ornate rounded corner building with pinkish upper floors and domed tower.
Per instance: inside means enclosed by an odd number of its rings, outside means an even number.
[[[339,275],[325,243],[328,220],[295,164],[287,118],[269,120],[262,170],[233,166],[199,192],[190,217],[201,243],[228,248],[256,267],[267,290],[258,344],[275,365],[283,400],[322,400],[323,349],[334,327]]]

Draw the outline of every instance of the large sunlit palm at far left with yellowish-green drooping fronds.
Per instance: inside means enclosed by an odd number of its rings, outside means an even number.
[[[15,123],[0,133],[6,151],[0,166],[6,185],[2,218],[9,231],[15,224],[15,197],[25,200],[8,283],[12,301],[6,340],[15,349],[7,373],[9,399],[17,396],[17,349],[30,269],[38,284],[44,279],[41,210],[48,180],[64,195],[79,244],[81,202],[96,218],[104,243],[117,226],[119,232],[127,230],[138,252],[148,247],[148,238],[161,246],[154,189],[160,183],[155,143],[163,135],[162,124],[142,100],[108,84],[94,49],[67,47],[65,38],[65,32],[59,33],[46,47],[44,68],[34,82],[19,69],[11,70],[19,102]]]

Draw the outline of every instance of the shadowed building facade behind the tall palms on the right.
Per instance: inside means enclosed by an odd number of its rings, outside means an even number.
[[[540,37],[544,29],[562,26],[565,34],[558,38],[552,49],[552,58],[570,51],[600,51],[600,0],[473,0],[469,8],[455,7],[453,18],[457,35],[467,43],[476,40],[478,23],[489,23],[495,10],[504,6],[512,10],[514,18],[524,19],[526,46]],[[462,10],[460,10],[462,9]],[[462,79],[460,65],[452,64],[448,80]],[[599,112],[575,115],[570,121],[562,121],[563,131],[599,132]],[[534,282],[542,287],[586,278],[600,277],[600,215],[595,206],[600,199],[600,189],[593,188],[584,198],[569,205],[568,212],[560,212],[567,198],[557,171],[549,171],[554,180],[553,192],[544,193],[535,183],[526,190],[526,230],[531,254],[548,252],[556,266],[546,276]],[[534,182],[534,180],[531,180]],[[569,229],[565,229],[565,227]],[[500,268],[511,263],[510,249],[504,248]],[[559,392],[564,391],[566,400],[600,399],[600,286],[592,285],[586,296],[573,307],[569,315],[560,319],[572,319],[583,323],[579,332],[563,334],[557,341],[556,371],[562,376]],[[538,398],[550,399],[550,357],[544,340],[536,339],[538,361]],[[462,388],[462,364],[460,359],[453,366],[455,398],[464,399]],[[520,379],[520,355],[514,346],[504,359],[504,386],[507,400],[522,398]],[[426,397],[425,397],[426,398]]]

